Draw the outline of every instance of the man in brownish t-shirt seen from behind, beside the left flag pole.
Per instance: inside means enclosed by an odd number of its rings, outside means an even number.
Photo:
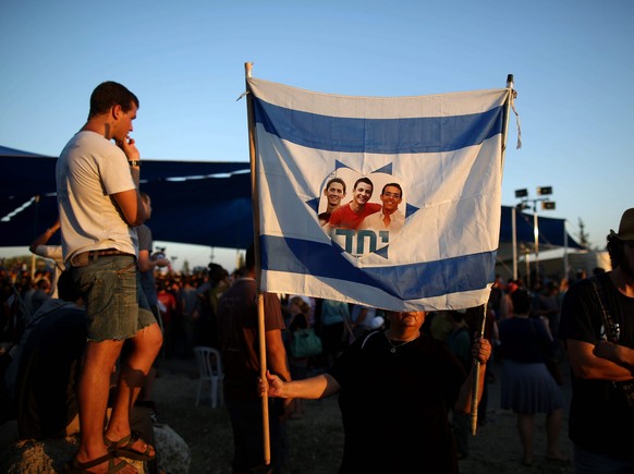
[[[256,380],[260,361],[282,379],[291,379],[281,333],[284,320],[279,297],[257,292],[253,245],[246,251],[245,267],[246,274],[234,281],[218,302],[218,339],[224,373],[222,387],[233,432],[232,472],[265,473],[272,469],[277,473],[283,471],[288,455],[283,420],[292,400],[273,402],[260,399]],[[261,405],[260,400],[266,405]],[[263,413],[268,416],[269,409],[272,414],[263,435]],[[264,463],[263,441],[271,452]]]

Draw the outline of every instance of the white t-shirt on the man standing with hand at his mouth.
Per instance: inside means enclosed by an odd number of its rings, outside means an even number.
[[[78,132],[56,167],[64,262],[103,248],[138,256],[134,228],[110,197],[135,187],[121,148],[95,132]]]

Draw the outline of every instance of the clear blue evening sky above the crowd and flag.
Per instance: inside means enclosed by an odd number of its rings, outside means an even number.
[[[634,207],[634,2],[298,3],[2,0],[0,144],[57,156],[112,80],[141,100],[143,157],[248,161],[247,61],[255,77],[363,96],[498,88],[511,73],[523,145],[512,117],[502,203],[550,185],[557,209],[539,215],[574,238],[581,218],[600,248]]]

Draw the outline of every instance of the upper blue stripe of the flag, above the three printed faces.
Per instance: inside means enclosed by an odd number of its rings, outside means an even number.
[[[254,98],[256,123],[281,139],[305,147],[376,154],[451,151],[502,132],[503,108],[483,113],[411,119],[319,116]]]

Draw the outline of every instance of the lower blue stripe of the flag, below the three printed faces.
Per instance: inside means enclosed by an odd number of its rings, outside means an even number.
[[[331,244],[261,235],[260,245],[263,270],[352,281],[377,288],[403,301],[480,290],[492,281],[496,267],[496,252],[428,263],[357,268]]]

